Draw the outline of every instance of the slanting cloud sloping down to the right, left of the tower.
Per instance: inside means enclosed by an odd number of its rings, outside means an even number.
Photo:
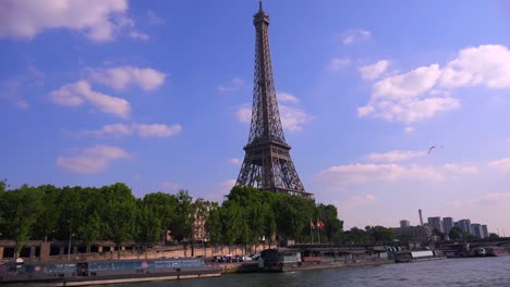
[[[49,98],[58,104],[77,107],[88,101],[100,111],[117,115],[122,118],[130,116],[131,104],[129,101],[94,91],[86,80],[62,86],[49,93]]]

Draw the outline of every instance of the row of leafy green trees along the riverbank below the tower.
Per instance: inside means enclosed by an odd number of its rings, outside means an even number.
[[[343,233],[335,205],[252,187],[232,188],[227,200],[218,204],[193,200],[186,190],[135,198],[124,184],[100,188],[23,185],[9,189],[5,180],[0,182],[0,238],[15,240],[16,253],[28,239],[65,240],[70,235],[84,242],[87,251],[96,240],[111,240],[119,247],[135,242],[146,248],[156,245],[166,230],[177,241],[191,242],[193,252],[197,220],[205,220],[210,242],[216,246],[253,246],[260,238],[271,244],[290,238],[317,242],[318,235],[321,242],[394,238],[381,226]],[[312,229],[311,223],[317,221],[324,226]]]

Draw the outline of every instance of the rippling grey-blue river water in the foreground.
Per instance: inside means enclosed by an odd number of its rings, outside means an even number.
[[[287,287],[287,286],[510,286],[510,257],[423,261],[380,266],[252,273],[218,278],[184,279],[122,287]]]

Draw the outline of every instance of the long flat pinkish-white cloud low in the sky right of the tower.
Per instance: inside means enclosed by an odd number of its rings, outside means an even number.
[[[336,165],[317,174],[317,178],[330,185],[367,183],[399,183],[404,180],[438,183],[452,176],[475,174],[478,170],[469,164],[417,165],[417,164],[349,164]]]

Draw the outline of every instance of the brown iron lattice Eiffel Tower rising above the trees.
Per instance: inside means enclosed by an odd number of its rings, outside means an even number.
[[[253,17],[256,37],[252,124],[235,185],[312,198],[313,194],[306,192],[300,180],[289,153],[291,147],[283,136],[269,51],[269,16],[262,1]]]

